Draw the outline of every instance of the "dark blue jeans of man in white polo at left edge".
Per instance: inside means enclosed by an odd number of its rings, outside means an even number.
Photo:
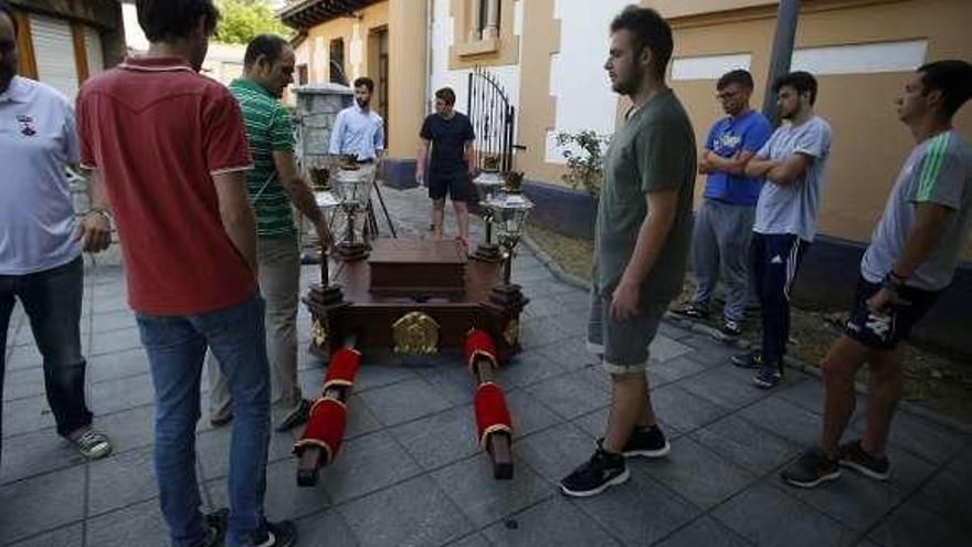
[[[84,264],[80,256],[63,266],[43,272],[0,275],[0,392],[3,390],[3,370],[7,368],[7,329],[14,298],[19,298],[44,357],[47,403],[61,435],[92,422],[92,413],[84,402],[85,361],[81,355],[78,329],[83,293]],[[0,440],[2,438],[0,420]]]

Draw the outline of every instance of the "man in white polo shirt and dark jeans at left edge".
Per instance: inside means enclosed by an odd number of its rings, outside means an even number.
[[[85,403],[78,322],[81,252],[108,245],[108,212],[91,211],[75,223],[64,172],[65,165],[78,162],[74,114],[59,92],[15,71],[17,20],[0,0],[0,389],[7,330],[19,299],[44,359],[57,434],[86,457],[102,457],[112,444],[92,428]]]

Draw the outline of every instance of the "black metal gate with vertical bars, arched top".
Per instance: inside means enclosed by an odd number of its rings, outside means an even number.
[[[476,132],[476,166],[483,169],[492,156],[499,160],[500,172],[511,171],[516,108],[496,76],[482,67],[469,73],[468,90],[466,112]]]

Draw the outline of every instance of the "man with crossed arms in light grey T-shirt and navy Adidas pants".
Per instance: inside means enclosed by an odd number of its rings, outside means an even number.
[[[813,113],[816,78],[791,72],[773,83],[781,125],[746,165],[764,177],[752,227],[752,273],[762,305],[762,349],[732,358],[759,371],[753,382],[772,388],[783,378],[790,338],[790,295],[796,270],[816,234],[816,212],[831,157],[831,126]]]

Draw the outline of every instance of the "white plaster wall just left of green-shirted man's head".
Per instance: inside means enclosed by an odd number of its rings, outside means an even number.
[[[614,133],[617,95],[611,91],[604,71],[610,43],[608,28],[628,3],[631,0],[554,0],[553,17],[560,20],[560,52],[550,59],[556,122],[547,130],[548,162],[566,162],[554,141],[559,132]]]

